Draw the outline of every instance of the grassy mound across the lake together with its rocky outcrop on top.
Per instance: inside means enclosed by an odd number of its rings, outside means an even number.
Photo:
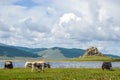
[[[120,61],[120,58],[106,56],[98,48],[92,46],[85,50],[83,56],[71,59],[71,61]]]

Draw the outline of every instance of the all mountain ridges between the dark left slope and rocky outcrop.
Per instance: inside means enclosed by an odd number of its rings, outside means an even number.
[[[26,47],[16,47],[17,49],[24,50],[27,52],[32,52],[42,56],[42,58],[47,59],[65,59],[65,58],[77,58],[84,54],[83,49],[67,49],[60,47],[53,48],[26,48]]]

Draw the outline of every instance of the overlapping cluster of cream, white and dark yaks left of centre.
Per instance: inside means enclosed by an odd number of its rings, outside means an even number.
[[[36,61],[36,62],[26,62],[25,68],[32,68],[31,72],[34,70],[44,71],[45,68],[50,68],[50,64],[45,63],[44,61]]]

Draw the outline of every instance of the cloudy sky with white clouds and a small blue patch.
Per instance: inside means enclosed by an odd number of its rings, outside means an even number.
[[[120,0],[0,0],[0,43],[120,55]]]

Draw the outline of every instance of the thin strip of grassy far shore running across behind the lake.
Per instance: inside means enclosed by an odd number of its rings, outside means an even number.
[[[3,61],[14,61],[14,62],[26,62],[26,61],[45,61],[45,62],[84,62],[84,61],[109,61],[109,62],[120,62],[120,58],[105,58],[105,57],[87,57],[87,58],[66,58],[66,59],[38,59],[38,58],[6,58],[0,59],[0,62]]]

